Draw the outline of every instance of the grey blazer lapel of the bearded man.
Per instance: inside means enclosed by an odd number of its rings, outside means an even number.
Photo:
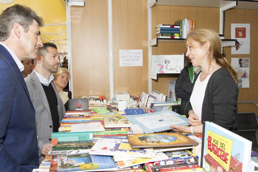
[[[30,79],[32,79],[32,83],[34,84],[35,89],[37,90],[38,95],[39,95],[43,105],[46,107],[46,110],[48,111],[50,118],[52,118],[51,112],[50,112],[50,107],[48,104],[48,99],[46,98],[46,93],[40,83],[40,80],[38,79],[38,76],[36,75],[36,73],[34,71],[30,74]]]

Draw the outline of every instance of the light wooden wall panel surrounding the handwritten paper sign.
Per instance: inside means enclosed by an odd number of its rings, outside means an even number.
[[[148,2],[112,0],[114,92],[148,93]],[[142,49],[143,66],[119,67],[120,49]]]

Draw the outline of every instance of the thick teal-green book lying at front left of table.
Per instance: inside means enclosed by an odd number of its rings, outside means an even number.
[[[52,133],[52,146],[57,142],[93,141],[93,132],[58,132]]]

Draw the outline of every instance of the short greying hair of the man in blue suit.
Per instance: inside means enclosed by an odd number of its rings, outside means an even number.
[[[0,15],[0,41],[9,38],[14,23],[19,23],[24,32],[28,32],[33,20],[41,27],[44,25],[42,17],[39,17],[35,11],[24,5],[15,4],[5,9]]]

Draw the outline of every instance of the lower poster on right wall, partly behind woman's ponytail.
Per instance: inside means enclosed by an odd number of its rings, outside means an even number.
[[[231,66],[237,73],[238,87],[249,88],[250,58],[231,58]]]

